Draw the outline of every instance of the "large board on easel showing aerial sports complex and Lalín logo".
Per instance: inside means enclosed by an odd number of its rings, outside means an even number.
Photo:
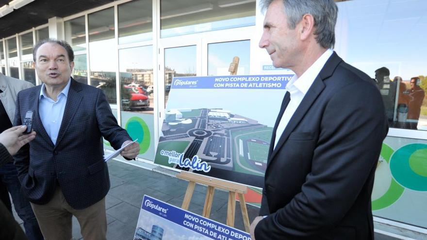
[[[262,187],[292,76],[175,77],[154,162]]]

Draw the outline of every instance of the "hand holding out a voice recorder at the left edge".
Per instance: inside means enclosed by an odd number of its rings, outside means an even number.
[[[16,126],[6,129],[0,134],[0,143],[6,147],[10,155],[15,155],[23,145],[30,143],[35,138],[35,131],[22,134],[25,129],[27,126]]]

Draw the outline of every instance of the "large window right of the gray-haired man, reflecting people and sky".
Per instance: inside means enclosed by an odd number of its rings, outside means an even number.
[[[389,126],[427,130],[427,32],[418,31],[426,26],[427,2],[358,0],[338,6],[338,53],[375,81]]]

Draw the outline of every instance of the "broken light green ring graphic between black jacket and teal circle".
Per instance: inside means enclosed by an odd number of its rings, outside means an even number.
[[[393,152],[394,150],[389,145],[383,143],[380,157],[383,158],[385,162],[381,162],[379,164],[389,163]],[[405,188],[400,186],[393,178],[391,178],[390,187],[387,192],[378,199],[372,201],[372,210],[379,210],[391,206],[400,198],[400,196],[402,196],[404,191]]]

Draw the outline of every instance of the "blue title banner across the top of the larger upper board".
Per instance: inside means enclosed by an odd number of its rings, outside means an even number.
[[[172,89],[285,89],[293,75],[175,77]]]

